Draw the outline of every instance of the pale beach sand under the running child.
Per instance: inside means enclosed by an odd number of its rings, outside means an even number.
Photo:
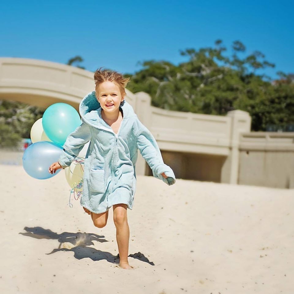
[[[138,176],[123,270],[112,209],[94,227],[64,171],[0,175],[0,293],[294,293],[293,189]]]

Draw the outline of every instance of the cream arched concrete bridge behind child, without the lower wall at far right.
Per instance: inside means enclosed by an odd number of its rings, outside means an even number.
[[[93,90],[92,72],[41,60],[0,58],[0,99],[45,108],[65,102],[78,109],[81,99]],[[178,177],[236,183],[236,138],[241,131],[250,131],[251,118],[246,112],[217,116],[168,111],[151,106],[148,94],[128,90],[126,100],[154,135]],[[137,174],[146,173],[141,156],[136,169]]]

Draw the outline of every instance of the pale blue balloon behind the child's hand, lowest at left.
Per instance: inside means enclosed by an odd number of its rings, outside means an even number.
[[[62,148],[53,142],[40,141],[36,142],[25,150],[22,157],[22,164],[28,175],[35,179],[49,179],[56,175],[56,173],[49,173],[49,166],[58,161]]]

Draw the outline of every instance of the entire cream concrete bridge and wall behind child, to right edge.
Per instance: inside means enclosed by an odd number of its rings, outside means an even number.
[[[78,110],[81,99],[94,89],[93,73],[87,70],[34,59],[0,58],[0,99],[44,108],[64,102]],[[251,117],[240,110],[226,116],[169,111],[151,106],[147,93],[127,89],[126,100],[154,135],[165,163],[178,178],[293,187],[294,133],[250,133]],[[275,180],[277,164],[281,171]],[[141,156],[136,171],[150,174]]]

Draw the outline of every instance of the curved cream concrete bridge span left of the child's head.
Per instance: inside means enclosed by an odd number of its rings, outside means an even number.
[[[78,110],[95,89],[93,73],[74,66],[25,58],[0,58],[0,99],[47,108],[64,102]],[[128,91],[130,103],[134,94]]]

